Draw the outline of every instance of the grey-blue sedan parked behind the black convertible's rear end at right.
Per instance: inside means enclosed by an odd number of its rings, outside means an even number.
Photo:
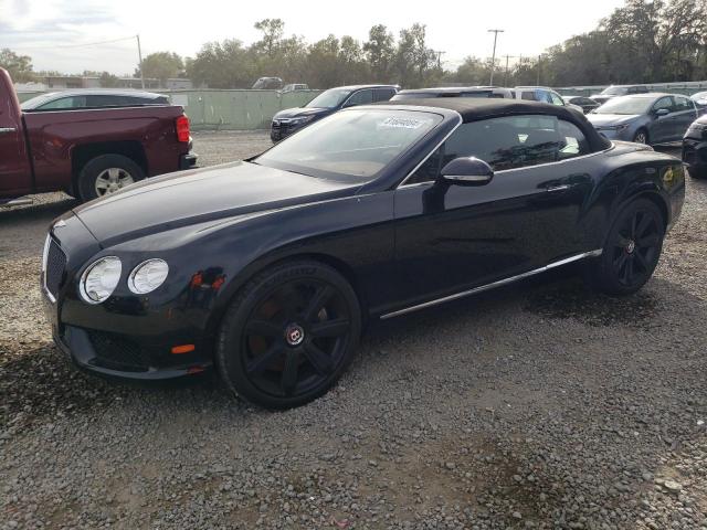
[[[612,98],[587,117],[609,139],[654,145],[680,141],[697,109],[689,97],[653,93]]]

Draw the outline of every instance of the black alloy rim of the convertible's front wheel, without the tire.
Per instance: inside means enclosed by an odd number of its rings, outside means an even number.
[[[326,384],[346,356],[350,321],[336,287],[318,279],[281,284],[245,322],[240,350],[247,379],[277,398]]]

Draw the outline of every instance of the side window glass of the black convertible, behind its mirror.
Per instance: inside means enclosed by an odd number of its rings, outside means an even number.
[[[590,152],[574,124],[555,116],[507,116],[462,124],[405,181],[435,180],[458,157],[476,157],[494,171],[557,162]]]

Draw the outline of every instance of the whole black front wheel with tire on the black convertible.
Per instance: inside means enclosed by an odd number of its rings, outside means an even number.
[[[217,364],[235,394],[291,409],[336,383],[360,333],[356,293],[339,273],[318,262],[285,263],[257,274],[231,303]]]

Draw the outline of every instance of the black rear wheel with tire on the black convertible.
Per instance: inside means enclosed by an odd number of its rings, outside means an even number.
[[[614,220],[602,255],[588,263],[591,285],[608,295],[631,295],[651,278],[661,257],[665,222],[647,199],[631,202]]]

